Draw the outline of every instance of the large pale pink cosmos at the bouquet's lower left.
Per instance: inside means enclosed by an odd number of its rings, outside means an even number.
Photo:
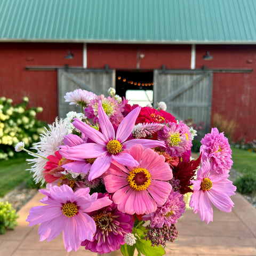
[[[29,226],[41,223],[38,229],[40,241],[47,239],[49,242],[62,231],[68,252],[77,251],[82,241],[93,238],[96,225],[87,213],[112,203],[108,197],[97,199],[97,193],[90,195],[89,188],[81,188],[74,193],[69,186],[63,185],[39,191],[46,195],[40,201],[46,205],[32,207],[26,221]]]

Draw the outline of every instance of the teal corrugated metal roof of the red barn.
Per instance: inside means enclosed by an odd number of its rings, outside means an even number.
[[[0,41],[256,43],[256,0],[1,0]]]

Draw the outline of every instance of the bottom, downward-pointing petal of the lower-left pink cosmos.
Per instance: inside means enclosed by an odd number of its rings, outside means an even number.
[[[81,239],[79,239],[77,226],[80,223],[76,222],[76,218],[68,218],[66,225],[62,231],[63,243],[65,249],[70,252],[71,250],[77,251],[81,245]]]

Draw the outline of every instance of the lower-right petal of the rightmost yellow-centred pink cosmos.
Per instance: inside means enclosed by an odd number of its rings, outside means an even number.
[[[234,206],[233,201],[228,195],[211,188],[207,191],[211,202],[223,212],[231,212],[231,208]]]

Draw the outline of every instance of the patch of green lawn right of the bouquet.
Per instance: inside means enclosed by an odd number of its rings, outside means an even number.
[[[242,174],[253,174],[256,177],[256,153],[239,148],[232,149],[233,168]]]

